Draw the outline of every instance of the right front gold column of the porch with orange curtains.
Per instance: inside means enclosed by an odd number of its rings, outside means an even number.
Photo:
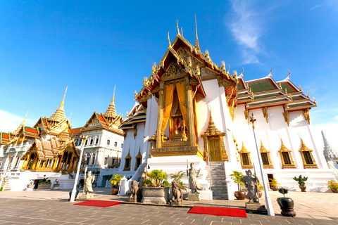
[[[196,134],[194,126],[194,108],[192,106],[192,86],[189,85],[189,79],[185,79],[185,103],[187,105],[189,143],[190,146],[196,146]]]

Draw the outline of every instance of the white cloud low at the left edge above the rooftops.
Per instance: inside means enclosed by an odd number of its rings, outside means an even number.
[[[4,110],[0,110],[0,131],[13,132],[20,126],[24,119],[25,117],[19,117]],[[26,124],[27,122],[30,122],[30,120],[26,120]]]

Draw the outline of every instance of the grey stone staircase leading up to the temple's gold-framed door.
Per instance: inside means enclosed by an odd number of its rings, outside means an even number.
[[[210,181],[211,191],[213,191],[213,199],[227,200],[227,185],[225,183],[225,170],[223,162],[211,162],[211,166],[206,166],[208,176],[206,180]]]

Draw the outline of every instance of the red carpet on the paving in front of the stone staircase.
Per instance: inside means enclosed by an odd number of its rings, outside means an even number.
[[[188,213],[194,214],[208,214],[214,216],[223,216],[223,217],[246,217],[245,210],[232,209],[232,208],[222,208],[222,207],[203,207],[203,206],[194,206]]]

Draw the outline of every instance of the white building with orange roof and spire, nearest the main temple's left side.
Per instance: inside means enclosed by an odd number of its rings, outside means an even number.
[[[115,89],[106,113],[94,112],[84,127],[73,129],[73,139],[81,144],[80,135],[87,136],[84,143],[84,158],[88,171],[95,175],[95,186],[106,186],[108,176],[101,176],[102,169],[120,165],[123,148],[123,131],[119,129],[123,117],[116,114]]]

